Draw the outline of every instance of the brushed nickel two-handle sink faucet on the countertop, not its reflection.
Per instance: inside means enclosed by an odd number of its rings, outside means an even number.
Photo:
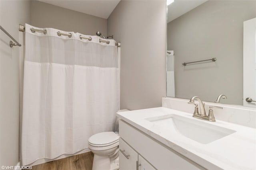
[[[195,100],[197,100],[198,103],[199,103],[200,112],[198,111],[198,104],[195,104]],[[192,97],[190,99],[190,101],[188,102],[188,104],[194,104],[196,106],[195,110],[194,110],[194,113],[193,113],[193,117],[196,117],[196,118],[199,118],[199,119],[204,119],[204,120],[207,120],[207,121],[216,121],[212,108],[216,107],[216,108],[219,108],[219,109],[223,109],[223,107],[210,106],[208,116],[206,116],[204,103],[202,102],[202,100],[198,96]]]

